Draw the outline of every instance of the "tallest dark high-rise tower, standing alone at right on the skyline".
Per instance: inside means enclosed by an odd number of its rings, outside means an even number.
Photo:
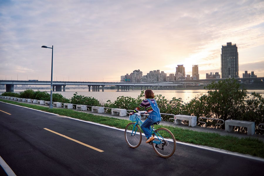
[[[222,78],[238,78],[238,51],[236,44],[227,42],[222,45],[221,54],[221,77]]]

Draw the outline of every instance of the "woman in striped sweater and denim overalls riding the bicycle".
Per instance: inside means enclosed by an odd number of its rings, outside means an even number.
[[[149,143],[150,141],[154,140],[154,137],[151,135],[151,125],[153,125],[156,122],[161,121],[160,116],[160,109],[158,108],[157,102],[154,99],[154,93],[152,90],[147,89],[145,90],[145,100],[141,102],[141,104],[136,107],[136,109],[130,113],[130,115],[133,115],[134,113],[140,111],[143,107],[145,107],[145,111],[147,111],[145,114],[149,114],[148,119],[146,119],[142,125],[141,129],[145,133],[146,136],[146,143]],[[149,129],[149,130],[148,130]]]

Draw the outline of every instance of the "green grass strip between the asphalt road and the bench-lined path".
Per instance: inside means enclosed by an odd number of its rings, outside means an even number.
[[[16,101],[9,101],[4,99],[0,99],[0,101],[10,104],[16,104],[19,106],[24,106],[32,109],[37,109],[40,111],[51,112],[54,114],[59,114],[61,116],[68,116],[76,119],[82,119],[85,121],[91,121],[108,126],[114,126],[116,128],[121,128],[121,129],[125,129],[126,125],[130,122],[128,120],[123,120],[123,119],[116,119],[112,117],[104,117],[99,115],[87,114],[84,112],[78,112],[72,109],[57,109],[57,108],[49,109],[48,107],[19,103]],[[250,137],[237,138],[233,136],[221,136],[217,133],[198,132],[188,129],[171,127],[171,126],[163,126],[163,125],[155,126],[156,129],[161,127],[169,129],[174,134],[175,139],[180,142],[214,147],[222,150],[228,150],[231,152],[264,158],[264,142],[259,139],[250,138]]]

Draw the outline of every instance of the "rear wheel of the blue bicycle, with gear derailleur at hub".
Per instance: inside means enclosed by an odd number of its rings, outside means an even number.
[[[153,136],[155,139],[152,142],[154,151],[163,158],[168,158],[175,152],[176,140],[172,132],[166,128],[158,128],[156,130],[158,136]]]

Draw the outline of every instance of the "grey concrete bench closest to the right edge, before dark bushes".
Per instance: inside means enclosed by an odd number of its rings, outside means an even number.
[[[255,134],[255,122],[250,121],[240,121],[240,120],[226,120],[225,121],[225,131],[231,132],[233,126],[246,127],[248,129],[248,135]]]

